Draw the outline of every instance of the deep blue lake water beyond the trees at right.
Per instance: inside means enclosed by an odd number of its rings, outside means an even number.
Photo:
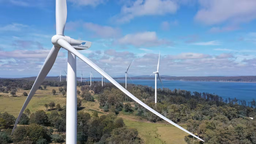
[[[116,80],[118,83],[125,83],[124,79]],[[132,80],[134,84],[148,85],[155,87],[155,80]],[[131,83],[127,79],[127,83]],[[107,82],[107,81],[106,81]],[[208,92],[218,94],[224,100],[226,98],[251,101],[256,99],[256,83],[232,83],[232,82],[199,82],[199,81],[171,81],[162,80],[164,87],[173,89],[187,90],[191,92]],[[162,88],[160,81],[157,81],[157,88]]]

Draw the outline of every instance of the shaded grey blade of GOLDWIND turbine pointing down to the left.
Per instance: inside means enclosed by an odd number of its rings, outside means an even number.
[[[24,104],[23,104],[23,106],[20,110],[20,113],[19,113],[19,115],[16,119],[16,122],[15,122],[14,126],[13,126],[12,133],[14,132],[14,129],[15,129],[16,125],[18,124],[19,120],[20,120],[20,116],[23,114],[25,108],[28,106],[29,101],[31,100],[33,95],[36,93],[36,90],[38,89],[40,84],[44,81],[44,78],[47,76],[47,74],[51,70],[51,68],[52,68],[52,66],[53,66],[53,64],[56,60],[56,57],[58,55],[59,50],[60,50],[59,47],[53,46],[51,51],[49,52],[47,58],[45,59],[44,65],[42,66],[38,76],[36,77],[36,81],[33,84],[32,88],[31,88],[31,90],[28,94],[28,97],[25,100],[25,102],[24,102]]]

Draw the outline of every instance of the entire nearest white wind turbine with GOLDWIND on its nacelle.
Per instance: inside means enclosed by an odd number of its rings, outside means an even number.
[[[47,76],[49,71],[52,68],[52,65],[54,64],[57,54],[60,50],[60,48],[64,48],[68,50],[68,81],[67,81],[67,106],[66,106],[66,144],[76,144],[76,57],[87,63],[89,66],[91,66],[94,70],[100,73],[100,75],[104,76],[106,79],[108,79],[112,84],[114,84],[118,89],[120,89],[122,92],[127,94],[130,98],[135,100],[137,103],[139,103],[144,108],[148,109],[152,113],[156,114],[157,116],[161,117],[165,121],[167,121],[170,124],[173,124],[174,126],[178,127],[184,132],[187,132],[188,134],[196,137],[199,140],[199,137],[194,135],[191,132],[188,132],[186,129],[182,128],[178,124],[175,124],[168,118],[164,117],[154,109],[150,108],[148,105],[140,101],[138,98],[136,98],[134,95],[132,95],[130,92],[128,92],[124,87],[122,87],[120,84],[118,84],[112,77],[110,77],[107,73],[105,73],[102,69],[100,69],[96,64],[94,64],[91,60],[86,58],[84,55],[82,55],[77,50],[82,49],[88,49],[91,46],[91,42],[88,41],[81,41],[81,40],[75,40],[68,36],[64,36],[64,28],[66,24],[67,19],[67,3],[66,0],[56,0],[56,35],[52,37],[52,50],[49,52],[44,65],[42,66],[38,76],[36,77],[36,81],[34,82],[27,99],[25,100],[25,103],[23,104],[20,113],[16,119],[16,122],[13,126],[12,133],[14,132],[20,117],[24,110],[26,109],[29,101],[33,97],[33,95],[36,93],[36,90],[40,86],[40,84],[44,81],[44,78]],[[202,140],[204,141],[204,140]]]

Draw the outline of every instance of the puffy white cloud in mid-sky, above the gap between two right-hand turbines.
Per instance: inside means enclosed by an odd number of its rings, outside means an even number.
[[[135,34],[127,34],[117,40],[118,44],[131,44],[134,46],[156,46],[163,44],[170,44],[164,39],[158,39],[156,32],[139,32]]]

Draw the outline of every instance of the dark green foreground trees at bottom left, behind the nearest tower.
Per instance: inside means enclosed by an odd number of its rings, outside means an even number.
[[[65,108],[60,112],[52,110],[50,114],[46,114],[43,110],[30,114],[30,111],[26,109],[19,121],[21,126],[18,126],[11,136],[12,127],[10,125],[14,123],[14,116],[7,112],[0,114],[1,144],[12,142],[15,144],[48,144],[65,141]],[[97,112],[91,116],[89,113],[79,111],[77,113],[77,143],[140,144],[143,141],[138,137],[137,130],[127,128],[123,119],[117,118],[114,113],[99,117]]]

